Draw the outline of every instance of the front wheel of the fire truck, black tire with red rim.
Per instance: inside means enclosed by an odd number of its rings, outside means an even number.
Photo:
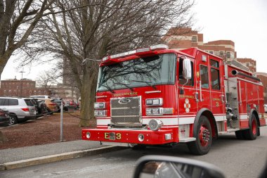
[[[200,120],[197,123],[197,130],[194,132],[194,137],[196,138],[195,141],[187,143],[190,152],[195,155],[207,154],[212,144],[212,131],[206,116],[200,116]]]

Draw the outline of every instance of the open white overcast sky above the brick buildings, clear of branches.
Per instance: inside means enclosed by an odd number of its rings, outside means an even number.
[[[193,8],[197,23],[202,29],[204,42],[229,39],[235,42],[237,58],[256,60],[256,70],[267,72],[267,1],[266,0],[196,0]],[[8,61],[1,80],[21,78],[21,68]],[[23,78],[34,80],[40,71],[51,65],[33,64],[24,67]]]

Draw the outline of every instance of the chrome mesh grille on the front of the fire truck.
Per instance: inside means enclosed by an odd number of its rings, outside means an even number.
[[[141,117],[140,97],[111,98],[111,122],[113,124],[139,123]]]

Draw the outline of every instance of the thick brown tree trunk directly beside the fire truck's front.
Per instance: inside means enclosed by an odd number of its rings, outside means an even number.
[[[96,126],[93,103],[96,100],[96,72],[89,77],[84,77],[81,89],[81,120],[79,126]]]

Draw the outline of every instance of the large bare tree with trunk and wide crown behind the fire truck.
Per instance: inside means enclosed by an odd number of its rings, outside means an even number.
[[[86,126],[94,118],[98,63],[93,60],[157,44],[171,26],[190,27],[193,4],[190,0],[58,0],[34,34],[38,47],[25,46],[25,51],[30,50],[30,60],[49,51],[70,63],[82,97],[80,125]]]

